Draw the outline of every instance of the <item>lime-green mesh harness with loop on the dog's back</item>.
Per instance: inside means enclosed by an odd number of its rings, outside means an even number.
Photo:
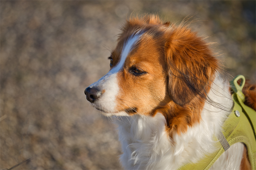
[[[238,85],[237,81],[242,79],[242,83]],[[245,85],[245,77],[242,75],[236,76],[230,81],[233,90],[234,108],[223,124],[223,135],[216,137],[217,147],[220,148],[215,153],[206,155],[198,163],[188,163],[179,170],[193,169],[209,169],[220,155],[226,151],[230,145],[237,142],[242,142],[247,146],[248,157],[251,163],[251,168],[255,170],[256,164],[256,112],[244,104],[245,96],[242,93],[242,88]]]

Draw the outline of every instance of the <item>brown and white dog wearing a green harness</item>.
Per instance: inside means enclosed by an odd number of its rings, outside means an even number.
[[[85,94],[120,120],[124,169],[179,169],[217,151],[214,136],[233,108],[230,85],[189,25],[131,17],[108,59],[110,71]],[[231,145],[210,169],[251,169],[246,146]]]

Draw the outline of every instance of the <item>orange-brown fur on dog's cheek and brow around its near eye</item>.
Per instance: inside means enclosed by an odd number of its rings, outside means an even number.
[[[160,103],[168,103],[170,98],[166,93],[164,54],[159,49],[159,46],[164,44],[148,35],[144,38],[145,41],[139,42],[139,45],[126,58],[124,69],[118,74],[121,89],[118,96],[120,99],[118,109],[133,108],[132,110],[141,114],[152,115],[153,109]],[[135,76],[131,73],[133,68],[140,68],[147,74]]]

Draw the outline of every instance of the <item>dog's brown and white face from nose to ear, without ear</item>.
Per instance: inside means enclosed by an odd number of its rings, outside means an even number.
[[[151,114],[168,103],[164,43],[149,32],[120,36],[112,51],[110,71],[86,88],[86,98],[105,115]]]

